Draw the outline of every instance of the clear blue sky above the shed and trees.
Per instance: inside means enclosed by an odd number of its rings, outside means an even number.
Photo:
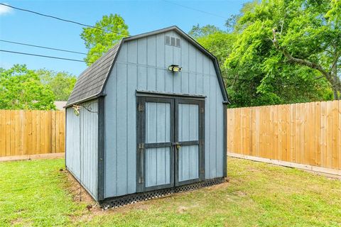
[[[103,15],[118,13],[129,26],[130,35],[146,33],[168,26],[178,26],[186,33],[193,25],[215,25],[224,29],[229,16],[239,12],[247,0],[227,1],[0,1],[21,9],[57,16],[71,21],[94,25]],[[205,11],[203,13],[202,11]],[[0,5],[0,40],[31,45],[42,45],[77,52],[87,52],[80,38],[82,26],[53,18],[10,9]],[[4,43],[0,50],[28,52],[82,60],[85,55],[45,50]],[[9,69],[13,64],[26,64],[29,69],[45,68],[65,71],[78,76],[87,68],[85,62],[49,59],[0,52],[0,67]]]

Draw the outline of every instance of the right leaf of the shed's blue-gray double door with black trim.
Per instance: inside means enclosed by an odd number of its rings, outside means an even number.
[[[204,179],[204,101],[175,99],[175,186]]]

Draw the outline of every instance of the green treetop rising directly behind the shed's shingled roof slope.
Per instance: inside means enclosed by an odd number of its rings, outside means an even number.
[[[95,28],[83,28],[80,37],[85,41],[87,48],[87,65],[91,65],[110,48],[116,45],[121,38],[129,36],[128,26],[118,14],[103,16],[97,21]],[[100,29],[99,29],[100,28]]]

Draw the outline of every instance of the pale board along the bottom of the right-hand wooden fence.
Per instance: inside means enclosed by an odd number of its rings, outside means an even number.
[[[281,165],[281,166],[293,167],[293,168],[297,168],[301,170],[308,170],[308,171],[315,172],[320,175],[326,175],[327,177],[334,177],[337,179],[341,179],[341,170],[335,170],[335,169],[330,169],[326,167],[318,167],[318,166],[313,166],[313,165],[304,165],[304,164],[293,163],[293,162],[285,162],[281,160],[272,160],[272,159],[264,158],[264,157],[241,155],[241,154],[230,153],[230,152],[227,152],[227,155],[229,157],[237,157],[237,158],[252,160],[256,162],[266,162],[266,163],[270,163],[274,165]]]

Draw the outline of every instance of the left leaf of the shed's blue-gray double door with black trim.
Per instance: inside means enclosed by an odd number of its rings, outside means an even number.
[[[138,108],[141,113],[139,191],[173,187],[174,100],[142,97]]]

